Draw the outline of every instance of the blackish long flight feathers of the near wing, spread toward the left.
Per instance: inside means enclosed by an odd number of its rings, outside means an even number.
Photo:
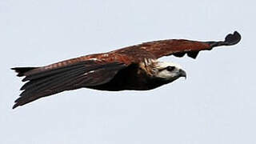
[[[46,67],[46,66],[45,66]],[[26,82],[13,109],[26,103],[57,94],[65,90],[75,90],[84,86],[97,86],[109,82],[114,75],[126,67],[120,62],[85,61],[67,66],[44,69],[45,67],[15,67],[18,77],[25,76]]]

